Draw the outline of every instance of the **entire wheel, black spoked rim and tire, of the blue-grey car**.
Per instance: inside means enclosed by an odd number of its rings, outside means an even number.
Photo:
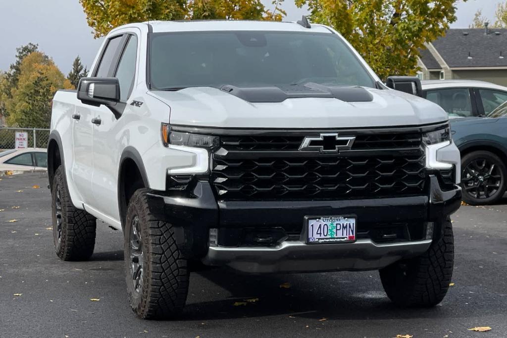
[[[489,151],[473,151],[461,159],[463,200],[473,206],[492,204],[505,192],[505,164]]]

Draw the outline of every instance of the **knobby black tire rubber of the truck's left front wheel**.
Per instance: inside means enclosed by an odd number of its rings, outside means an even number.
[[[188,261],[178,248],[173,226],[150,211],[147,189],[135,191],[125,222],[125,276],[130,307],[142,319],[172,319],[185,307],[189,288]],[[142,286],[131,272],[132,227],[137,217],[142,244]],[[135,225],[134,225],[135,226]]]

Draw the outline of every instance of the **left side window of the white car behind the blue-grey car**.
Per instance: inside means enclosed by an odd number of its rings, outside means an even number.
[[[449,116],[473,116],[468,88],[428,90],[426,92],[426,98],[442,107]]]

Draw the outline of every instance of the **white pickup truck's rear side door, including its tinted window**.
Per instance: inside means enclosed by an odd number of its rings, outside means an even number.
[[[106,77],[115,62],[117,51],[121,45],[123,36],[113,37],[104,44],[101,51],[100,61],[95,67],[93,76]],[[85,204],[95,205],[92,192],[93,173],[93,132],[96,111],[108,112],[104,107],[78,105],[73,115],[73,139],[74,139],[74,165],[73,180],[76,184],[82,201]]]

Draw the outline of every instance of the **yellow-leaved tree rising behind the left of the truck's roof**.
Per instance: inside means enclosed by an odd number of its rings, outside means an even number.
[[[261,0],[79,0],[95,38],[120,25],[149,20],[281,20],[282,1],[275,0],[271,12]]]

